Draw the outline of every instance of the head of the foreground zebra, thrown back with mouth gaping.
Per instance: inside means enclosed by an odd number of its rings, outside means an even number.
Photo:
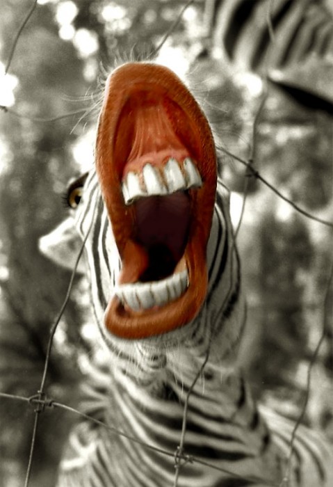
[[[108,348],[139,353],[135,362],[147,349],[156,358],[156,343],[160,357],[161,343],[197,346],[202,356],[214,342],[209,324],[222,322],[222,356],[245,321],[244,312],[236,324],[230,319],[239,303],[238,257],[228,248],[209,122],[168,68],[127,63],[108,77],[95,168],[84,179],[75,226]],[[77,185],[71,188],[76,206]],[[42,244],[56,260],[54,247]]]

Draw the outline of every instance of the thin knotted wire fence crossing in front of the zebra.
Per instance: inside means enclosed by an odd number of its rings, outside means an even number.
[[[22,34],[22,31],[24,30],[24,26],[26,26],[26,23],[29,21],[29,18],[33,14],[33,11],[35,10],[35,8],[37,6],[37,3],[38,3],[37,0],[33,1],[33,5],[31,6],[31,8],[29,9],[29,12],[24,17],[24,20],[23,20],[22,24],[19,26],[19,30],[17,31],[17,35],[15,36],[15,40],[13,42],[13,47],[10,50],[10,54],[8,56],[8,62],[6,64],[5,74],[7,74],[8,73],[8,70],[10,69],[10,65],[11,65],[11,63],[13,61],[13,57],[14,57],[14,54],[15,54],[15,49],[17,47],[17,42],[19,41],[19,37]],[[184,13],[184,11],[186,10],[186,8],[188,8],[188,6],[190,6],[191,3],[193,3],[193,0],[190,0],[190,1],[188,1],[186,3],[186,6],[184,6],[184,8],[181,10],[181,14],[179,15],[179,18],[177,19],[177,21],[174,22],[174,24],[172,24],[172,27],[170,28],[170,30],[163,36],[162,41],[160,42],[160,44],[158,45],[158,47],[156,47],[156,49],[154,50],[154,54],[156,52],[158,52],[159,49],[161,49],[161,47],[163,46],[163,44],[165,43],[165,41],[170,36],[170,33],[172,33],[172,31],[175,29],[175,27],[179,23],[179,20],[181,18],[181,15]],[[270,38],[271,38],[271,40],[274,40],[273,24],[271,22],[271,9],[272,9],[273,2],[270,0],[269,4],[270,4],[270,6],[269,6],[269,10],[268,10],[268,15],[267,15],[267,22],[268,22],[269,31],[270,31]],[[289,205],[291,205],[300,214],[306,216],[307,218],[311,218],[312,220],[317,221],[318,223],[321,223],[323,225],[327,225],[327,226],[333,227],[333,223],[331,223],[329,221],[326,221],[326,220],[323,220],[322,218],[318,218],[318,217],[310,214],[308,211],[302,209],[298,205],[296,205],[292,200],[290,200],[285,195],[283,195],[280,191],[278,191],[275,188],[275,186],[273,186],[273,184],[270,184],[266,180],[266,178],[262,177],[261,174],[259,173],[259,171],[254,167],[255,150],[256,150],[257,125],[259,123],[259,118],[260,118],[260,115],[261,115],[261,111],[262,111],[263,105],[266,102],[267,95],[268,95],[268,93],[267,93],[267,91],[265,91],[265,93],[263,94],[263,97],[261,99],[261,103],[260,103],[259,109],[258,109],[258,111],[257,111],[257,113],[255,115],[255,118],[254,118],[253,134],[252,134],[252,146],[251,146],[251,149],[250,149],[250,155],[249,155],[248,159],[245,160],[245,159],[242,159],[241,157],[238,157],[236,154],[233,154],[232,152],[229,152],[227,149],[225,149],[225,147],[218,147],[218,150],[221,150],[222,152],[225,152],[225,154],[229,155],[229,157],[232,157],[236,161],[242,163],[246,167],[246,169],[247,169],[246,170],[246,173],[245,173],[245,185],[244,185],[244,191],[243,191],[243,205],[242,205],[242,210],[241,210],[241,217],[240,217],[240,219],[238,221],[238,225],[236,227],[236,230],[234,232],[234,237],[232,239],[232,250],[233,251],[236,251],[236,238],[237,238],[238,230],[241,227],[241,222],[242,222],[242,219],[243,219],[243,213],[244,213],[244,209],[245,209],[245,202],[246,202],[247,193],[248,193],[248,183],[247,182],[248,182],[248,179],[249,179],[250,176],[251,177],[256,177],[257,179],[261,180],[261,182],[263,182],[263,184],[265,184],[266,186],[268,186],[269,189],[271,189],[274,193],[276,193],[279,198],[281,198],[282,200],[288,202]],[[33,117],[31,115],[25,115],[25,114],[17,113],[17,111],[15,111],[13,109],[10,109],[10,108],[8,108],[6,106],[0,106],[0,110],[2,110],[4,113],[10,113],[11,115],[14,115],[17,118],[26,118],[26,119],[29,119],[29,120],[31,120],[33,122],[55,122],[57,120],[61,120],[62,118],[67,118],[67,117],[70,117],[70,116],[73,116],[73,115],[76,115],[76,114],[87,113],[86,109],[79,109],[79,110],[76,110],[76,111],[72,111],[72,112],[69,112],[69,113],[65,113],[63,115],[57,115],[57,116],[54,116],[54,117],[51,117],[51,118],[39,118],[39,117]],[[92,218],[92,222],[93,222],[93,218]],[[79,251],[79,254],[78,254],[77,258],[76,258],[76,263],[75,263],[74,269],[72,271],[72,276],[70,278],[70,283],[68,285],[68,289],[67,289],[67,294],[65,296],[65,300],[63,301],[63,305],[60,308],[60,312],[58,313],[58,317],[57,317],[56,321],[54,322],[54,325],[51,327],[50,336],[49,336],[49,342],[48,342],[48,345],[47,345],[46,358],[44,360],[44,370],[43,370],[43,373],[42,373],[42,379],[41,379],[41,383],[40,383],[40,388],[38,389],[37,394],[34,394],[31,397],[23,397],[23,396],[19,396],[19,395],[15,395],[15,394],[7,394],[5,392],[0,392],[0,397],[7,398],[7,399],[13,399],[13,400],[17,400],[17,401],[25,401],[28,404],[30,404],[32,406],[35,406],[35,410],[34,410],[35,417],[34,417],[34,424],[33,424],[33,433],[32,433],[32,436],[31,436],[31,448],[30,448],[30,453],[29,453],[29,463],[28,463],[28,467],[26,469],[26,479],[25,479],[25,484],[24,484],[25,487],[29,487],[29,481],[30,481],[30,478],[31,478],[31,468],[32,468],[32,463],[33,463],[33,453],[34,453],[34,449],[35,449],[35,440],[36,440],[36,432],[37,432],[37,427],[38,427],[38,420],[39,420],[39,417],[40,417],[40,413],[43,413],[44,410],[46,410],[47,408],[59,408],[59,409],[62,409],[62,410],[66,410],[66,411],[68,411],[70,413],[73,413],[75,415],[78,415],[78,416],[82,417],[83,419],[86,419],[86,420],[89,420],[91,422],[94,422],[95,424],[98,424],[99,426],[102,426],[105,429],[108,429],[108,431],[111,431],[112,433],[116,433],[117,435],[124,436],[128,440],[131,440],[133,442],[137,442],[138,444],[142,445],[143,447],[146,447],[148,449],[153,449],[154,451],[159,452],[160,454],[163,454],[165,456],[169,456],[170,458],[173,458],[174,459],[174,468],[175,468],[174,487],[177,487],[178,480],[179,480],[179,474],[181,472],[181,467],[183,465],[185,465],[186,463],[198,463],[198,464],[204,465],[204,466],[206,466],[208,468],[212,468],[214,470],[218,470],[218,471],[223,472],[225,474],[232,475],[232,476],[234,476],[236,478],[246,480],[247,482],[250,482],[250,483],[257,483],[258,481],[262,481],[263,479],[254,479],[253,477],[242,477],[241,475],[238,475],[236,472],[228,471],[226,469],[223,469],[223,468],[220,468],[220,467],[218,467],[216,465],[213,465],[212,463],[209,463],[207,461],[204,461],[204,460],[202,460],[200,458],[196,458],[195,456],[189,456],[189,455],[187,455],[185,453],[186,452],[186,449],[185,449],[186,422],[187,422],[187,413],[188,413],[188,404],[189,404],[189,401],[190,401],[190,395],[191,395],[191,393],[193,391],[193,388],[195,386],[195,383],[197,382],[198,378],[200,377],[200,375],[202,374],[202,372],[204,370],[204,367],[206,365],[206,362],[207,362],[207,360],[209,358],[209,353],[207,353],[206,358],[204,359],[204,362],[202,364],[202,367],[200,367],[200,370],[197,372],[197,375],[195,376],[195,378],[193,380],[193,383],[190,386],[190,389],[188,390],[188,392],[186,394],[186,400],[185,400],[185,403],[184,403],[183,422],[182,422],[182,427],[181,427],[181,437],[180,437],[179,446],[177,447],[176,452],[171,452],[171,451],[168,451],[168,450],[165,450],[165,449],[157,448],[154,445],[149,445],[149,444],[147,444],[147,442],[143,442],[142,440],[140,440],[140,438],[136,438],[134,436],[127,435],[127,433],[124,433],[123,431],[121,431],[120,429],[118,429],[115,426],[112,426],[110,424],[105,424],[104,422],[101,422],[101,421],[97,420],[95,417],[91,417],[90,415],[87,415],[86,413],[83,413],[80,410],[77,410],[75,408],[72,408],[70,406],[67,406],[65,404],[62,404],[62,403],[60,403],[58,401],[55,401],[54,399],[49,399],[46,396],[46,394],[44,392],[44,388],[45,388],[45,382],[46,382],[46,379],[47,379],[47,372],[48,372],[49,360],[50,360],[50,356],[51,356],[51,349],[52,349],[53,341],[54,341],[54,334],[56,333],[56,329],[58,328],[58,324],[60,322],[60,319],[63,317],[63,312],[65,311],[65,307],[66,307],[67,302],[68,302],[68,300],[70,298],[70,294],[72,292],[72,287],[73,287],[73,282],[74,282],[74,277],[76,275],[76,269],[77,269],[77,266],[79,264],[79,260],[81,258],[81,255],[83,253],[83,249],[84,249],[84,246],[86,244],[86,239],[88,239],[88,235],[90,234],[90,230],[92,228],[92,222],[90,223],[90,227],[88,228],[88,230],[86,232],[86,237],[85,237],[85,239],[83,241],[83,244],[81,246],[81,249]],[[232,266],[231,266],[231,272],[232,272]],[[328,295],[329,295],[330,282],[332,282],[332,270],[331,270],[330,278],[328,279],[328,282],[327,282],[327,290],[326,290],[326,293],[325,293],[325,300],[324,300],[324,304],[323,304],[324,310],[325,310],[326,303],[327,303],[327,299],[328,299]],[[325,312],[324,312],[324,315],[325,315]],[[285,477],[284,477],[284,479],[282,479],[282,483],[284,481],[286,481],[287,479],[289,479],[289,474],[290,474],[289,470],[290,470],[290,465],[291,465],[291,456],[292,456],[292,452],[293,452],[293,442],[295,440],[296,431],[297,431],[298,427],[300,426],[300,423],[302,422],[302,419],[304,417],[304,413],[305,413],[306,408],[307,408],[307,403],[308,403],[308,399],[309,399],[310,382],[311,382],[311,372],[312,372],[312,369],[313,369],[314,364],[316,362],[316,359],[318,357],[318,351],[320,349],[321,344],[323,343],[324,337],[325,337],[325,327],[323,329],[322,335],[320,335],[320,339],[318,340],[318,344],[316,346],[316,349],[314,351],[314,354],[313,354],[313,356],[311,358],[311,362],[309,364],[308,373],[307,373],[307,390],[306,390],[306,395],[305,395],[305,398],[304,398],[304,404],[302,406],[302,410],[301,410],[300,416],[298,417],[298,420],[295,422],[295,426],[293,428],[293,433],[292,433],[292,436],[291,436],[291,444],[290,444],[291,453],[289,455],[289,465],[288,465],[287,470],[285,472]],[[266,485],[267,486],[272,486],[272,487],[282,486],[282,484],[269,483],[268,481],[266,481]]]

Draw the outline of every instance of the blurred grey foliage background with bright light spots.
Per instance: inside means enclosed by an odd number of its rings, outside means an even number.
[[[68,181],[92,164],[100,79],[121,60],[152,53],[184,3],[39,0],[4,77],[15,35],[33,1],[1,2],[0,105],[9,107],[0,113],[1,392],[30,397],[40,385],[49,330],[70,273],[39,253],[38,239],[66,218],[62,195]],[[188,83],[202,99],[219,143],[247,159],[262,83],[198,56],[203,12],[204,1],[194,1],[159,59],[179,74],[188,70]],[[57,119],[40,120],[46,118]],[[300,206],[332,219],[332,154],[332,111],[305,106],[270,85],[257,123],[255,168]],[[324,328],[306,420],[333,438],[332,300],[324,306],[332,231],[246,177],[232,157],[221,153],[220,163],[234,192],[235,221],[247,188],[238,234],[248,301],[241,365],[258,398],[295,416]],[[47,379],[49,397],[65,404],[76,404],[95,340],[89,324],[86,288],[78,278],[56,333]],[[32,406],[0,397],[0,486],[23,483],[33,418]],[[54,485],[71,421],[59,410],[41,415],[31,486]]]

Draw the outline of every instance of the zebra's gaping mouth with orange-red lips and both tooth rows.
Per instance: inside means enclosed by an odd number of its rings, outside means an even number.
[[[206,296],[216,154],[206,118],[170,70],[129,63],[111,74],[96,163],[122,260],[106,327],[137,339],[188,324]]]

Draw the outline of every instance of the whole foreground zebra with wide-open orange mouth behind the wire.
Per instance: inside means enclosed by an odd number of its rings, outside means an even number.
[[[59,487],[332,485],[332,447],[300,426],[291,449],[293,422],[258,406],[238,369],[246,305],[216,168],[209,122],[172,71],[109,75],[95,167],[68,195],[105,358]]]

